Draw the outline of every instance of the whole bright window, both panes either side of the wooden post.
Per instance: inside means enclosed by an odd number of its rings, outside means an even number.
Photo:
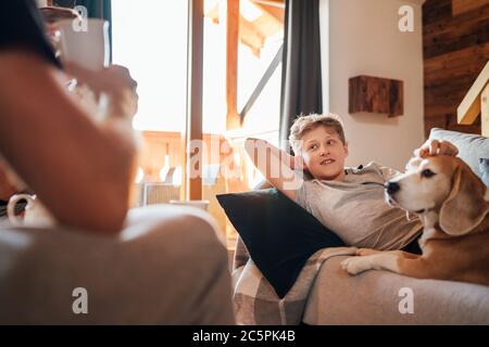
[[[226,0],[204,0],[202,194],[233,242],[234,230],[215,195],[249,190],[262,180],[244,154],[247,137],[278,144],[281,66],[277,57],[284,41],[285,5],[281,0],[240,0],[236,22],[230,23],[239,28],[231,48],[227,47],[227,4]],[[139,85],[134,127],[142,132],[146,144],[139,179],[152,183],[148,187],[162,187],[156,197],[165,203],[175,187],[184,183],[188,1],[146,0],[135,5],[112,0],[112,23],[113,61],[128,66]],[[234,62],[227,59],[230,49],[237,56]],[[228,121],[229,81],[235,83],[235,113],[247,108],[237,127]],[[180,197],[183,192],[184,188]]]

